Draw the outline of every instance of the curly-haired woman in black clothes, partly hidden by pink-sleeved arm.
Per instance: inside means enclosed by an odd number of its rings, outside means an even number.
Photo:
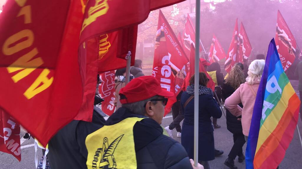
[[[226,78],[225,84],[222,87],[223,99],[230,97],[240,84],[245,82],[245,76],[243,72],[243,65],[235,64],[231,69],[229,76]],[[243,107],[240,103],[239,106]],[[226,127],[233,133],[234,145],[228,155],[228,158],[224,164],[232,169],[237,169],[234,164],[236,156],[238,156],[238,161],[243,162],[245,158],[242,152],[242,147],[245,143],[244,135],[242,133],[242,125],[239,118],[232,115],[228,109],[226,109]]]

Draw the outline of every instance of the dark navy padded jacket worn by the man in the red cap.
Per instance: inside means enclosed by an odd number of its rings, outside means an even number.
[[[116,124],[125,118],[145,116],[131,114],[123,107],[114,112],[106,125]],[[184,147],[162,134],[162,127],[153,119],[145,118],[133,127],[134,146],[138,169],[191,169]]]

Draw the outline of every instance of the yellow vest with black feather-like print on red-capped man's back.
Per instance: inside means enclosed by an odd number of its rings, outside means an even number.
[[[144,118],[126,118],[104,126],[86,137],[88,169],[136,169],[133,126]]]

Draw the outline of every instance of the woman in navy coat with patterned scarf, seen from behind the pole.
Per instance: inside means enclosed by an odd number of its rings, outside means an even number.
[[[199,73],[199,122],[198,122],[198,161],[209,169],[208,161],[215,159],[214,134],[211,117],[220,118],[222,113],[217,101],[213,98],[213,91],[207,88],[209,79],[204,72]],[[181,108],[185,119],[182,123],[182,145],[188,152],[189,158],[194,158],[194,75],[190,78],[190,85],[182,93]]]

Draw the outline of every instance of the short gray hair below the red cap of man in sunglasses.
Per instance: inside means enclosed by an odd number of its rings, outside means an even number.
[[[126,103],[126,104],[122,104],[122,107],[127,108],[130,110],[130,112],[132,112],[133,114],[137,114],[137,115],[145,115],[146,112],[146,108],[144,107],[146,103],[148,103],[149,101],[151,101],[152,99],[157,99],[158,96],[153,96],[149,99],[146,100],[141,100],[138,102],[134,102],[134,103]],[[156,104],[156,101],[152,101],[153,104]]]

